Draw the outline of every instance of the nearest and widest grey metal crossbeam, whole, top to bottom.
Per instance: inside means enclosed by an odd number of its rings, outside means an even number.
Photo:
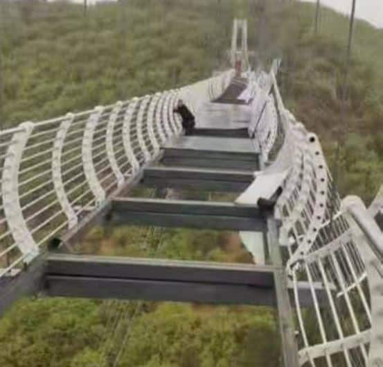
[[[275,305],[272,266],[51,255],[46,294],[80,298]]]

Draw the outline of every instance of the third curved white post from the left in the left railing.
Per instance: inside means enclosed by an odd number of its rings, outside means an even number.
[[[84,167],[84,173],[87,178],[89,188],[91,189],[93,196],[96,198],[97,205],[101,205],[105,200],[105,190],[100,185],[96,169],[94,168],[92,143],[94,131],[96,130],[98,120],[100,119],[103,110],[103,107],[98,106],[91,113],[91,116],[85,125],[84,137],[82,139],[82,164]]]

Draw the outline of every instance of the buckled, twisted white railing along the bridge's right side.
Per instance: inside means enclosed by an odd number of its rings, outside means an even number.
[[[283,106],[274,69],[258,78],[249,133],[267,166],[289,167],[274,214],[294,286],[300,364],[383,366],[380,259],[365,255],[371,238],[357,234],[360,223],[341,207],[318,137]],[[363,215],[372,218],[367,211]],[[375,241],[383,248],[381,232]],[[310,286],[311,309],[301,306],[301,282]]]

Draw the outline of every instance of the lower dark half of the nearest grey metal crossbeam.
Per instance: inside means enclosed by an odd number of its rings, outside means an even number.
[[[210,284],[47,275],[48,296],[274,306],[274,289]]]

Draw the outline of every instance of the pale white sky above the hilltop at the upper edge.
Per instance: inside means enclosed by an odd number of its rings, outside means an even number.
[[[54,1],[54,0],[51,0]],[[73,0],[83,3],[84,0]],[[88,3],[95,3],[98,0],[88,0]],[[111,0],[109,0],[111,1]],[[113,0],[112,0],[113,1]],[[316,2],[317,0],[304,0]],[[321,3],[340,12],[350,13],[352,0],[321,0]],[[366,19],[379,28],[383,28],[383,0],[357,0],[356,15],[358,18]]]

